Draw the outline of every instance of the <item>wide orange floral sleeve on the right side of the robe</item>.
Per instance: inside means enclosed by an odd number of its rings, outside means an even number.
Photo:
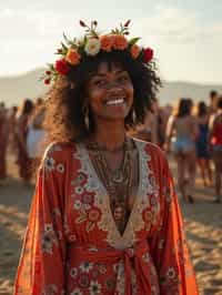
[[[196,295],[198,286],[184,234],[184,225],[169,171],[163,156],[159,175],[160,224],[150,238],[161,295]]]

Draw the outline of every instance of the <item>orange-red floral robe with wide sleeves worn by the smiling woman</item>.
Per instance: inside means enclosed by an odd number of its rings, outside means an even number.
[[[134,140],[140,181],[121,235],[83,144],[52,144],[39,171],[16,295],[196,295],[168,162]]]

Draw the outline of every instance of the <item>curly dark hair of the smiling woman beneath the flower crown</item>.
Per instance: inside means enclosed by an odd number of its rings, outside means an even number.
[[[101,62],[118,64],[125,70],[134,88],[133,111],[125,118],[125,129],[142,123],[151,101],[161,87],[155,62],[144,63],[133,59],[128,51],[100,52],[72,67],[68,75],[60,77],[47,98],[46,129],[49,141],[73,142],[88,138],[94,131],[93,115],[89,113],[90,128],[84,124],[87,82]],[[134,115],[133,115],[134,113]]]

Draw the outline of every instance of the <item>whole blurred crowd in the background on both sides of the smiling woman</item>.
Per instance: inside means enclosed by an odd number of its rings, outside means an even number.
[[[13,155],[24,184],[32,179],[46,148],[44,101],[26,99],[20,106],[0,103],[0,183],[7,179],[7,154]],[[143,124],[130,133],[158,144],[175,157],[178,189],[185,202],[195,201],[195,174],[203,186],[214,187],[213,202],[221,202],[222,190],[222,95],[212,90],[209,101],[194,103],[181,98],[178,105],[160,106],[157,99]]]

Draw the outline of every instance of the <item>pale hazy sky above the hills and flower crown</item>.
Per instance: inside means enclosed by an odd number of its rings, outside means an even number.
[[[0,1],[0,77],[54,62],[62,33],[83,33],[79,20],[108,32],[131,19],[131,37],[154,49],[168,81],[222,83],[221,0]]]

